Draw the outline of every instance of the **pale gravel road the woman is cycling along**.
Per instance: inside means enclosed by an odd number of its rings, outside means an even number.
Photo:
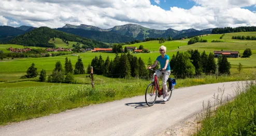
[[[187,121],[193,123],[203,101],[213,100],[218,87],[231,98],[236,86],[225,82],[176,89],[169,101],[157,98],[152,107],[144,95],[125,98],[13,123],[0,127],[0,135],[186,135]]]

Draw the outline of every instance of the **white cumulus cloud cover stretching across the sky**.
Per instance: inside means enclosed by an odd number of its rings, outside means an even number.
[[[16,23],[51,28],[86,24],[106,29],[131,23],[153,29],[182,30],[256,24],[256,13],[241,8],[255,5],[255,0],[190,1],[196,3],[191,9],[164,10],[151,5],[149,0],[2,0],[0,14]],[[154,2],[160,4],[160,0]],[[0,16],[0,25],[8,22],[3,16]]]

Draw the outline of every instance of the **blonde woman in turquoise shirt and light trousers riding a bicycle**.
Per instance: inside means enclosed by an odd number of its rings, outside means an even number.
[[[162,81],[162,88],[164,93],[164,101],[167,101],[168,95],[167,95],[167,80],[170,75],[170,65],[169,65],[169,59],[170,57],[166,55],[166,47],[162,45],[159,48],[160,56],[157,57],[157,60],[154,61],[154,64],[149,66],[148,69],[151,69],[155,66],[157,66],[158,62],[160,63],[160,67],[162,71],[159,71],[157,73],[157,77],[159,78],[163,74],[163,81]],[[154,77],[153,77],[154,78]]]

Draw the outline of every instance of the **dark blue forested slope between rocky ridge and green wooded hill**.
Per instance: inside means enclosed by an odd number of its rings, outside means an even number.
[[[94,30],[85,30],[81,28],[57,28],[56,30],[72,33],[74,35],[85,37],[89,39],[94,39],[96,41],[101,41],[105,43],[125,43],[136,40],[133,37],[119,35],[117,33],[109,31],[94,31]]]

